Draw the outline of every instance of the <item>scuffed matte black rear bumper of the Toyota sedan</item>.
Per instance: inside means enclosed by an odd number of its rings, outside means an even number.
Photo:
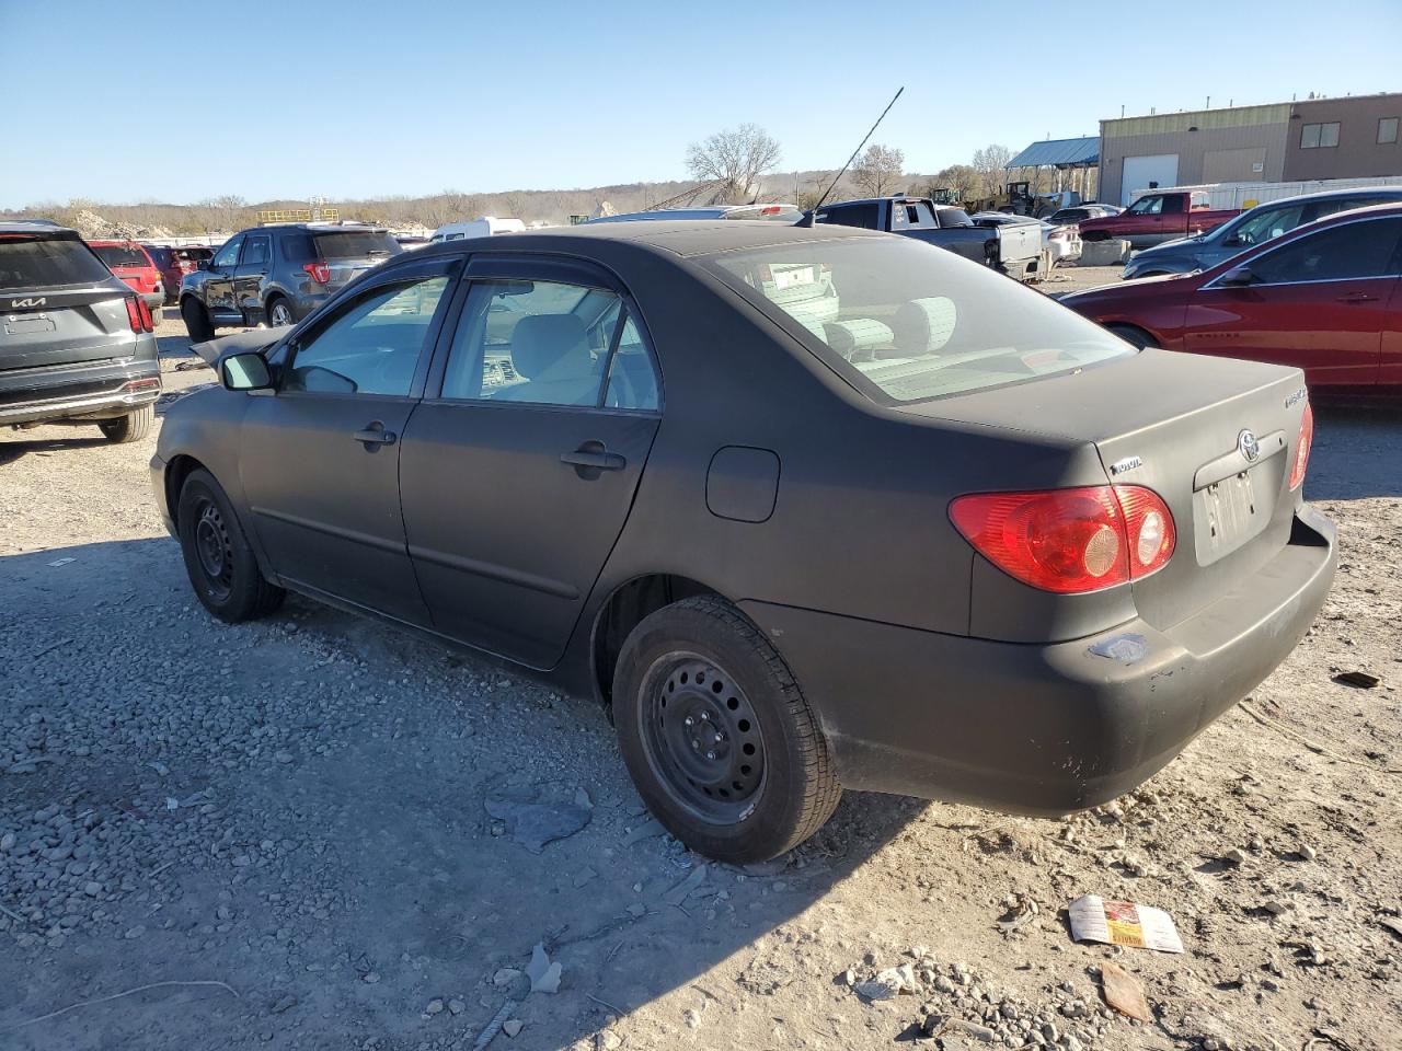
[[[1143,621],[1050,646],[937,635],[761,603],[847,788],[1059,816],[1166,765],[1280,664],[1323,604],[1333,524],[1168,631]]]

